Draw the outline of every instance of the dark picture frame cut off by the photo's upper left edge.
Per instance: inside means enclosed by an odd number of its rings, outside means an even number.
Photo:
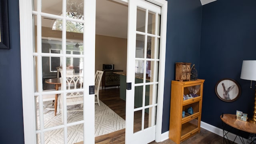
[[[0,0],[0,48],[10,48],[7,0]]]

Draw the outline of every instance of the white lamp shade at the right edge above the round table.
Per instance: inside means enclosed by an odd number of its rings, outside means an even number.
[[[240,78],[256,81],[256,60],[243,60]]]

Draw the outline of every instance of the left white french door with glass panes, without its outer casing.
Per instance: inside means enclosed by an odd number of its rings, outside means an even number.
[[[36,142],[94,143],[95,1],[33,2]]]

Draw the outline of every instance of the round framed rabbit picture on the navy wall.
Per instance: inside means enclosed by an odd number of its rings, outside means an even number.
[[[217,82],[215,93],[221,100],[225,102],[233,102],[239,98],[241,88],[235,80],[231,78],[223,78]]]

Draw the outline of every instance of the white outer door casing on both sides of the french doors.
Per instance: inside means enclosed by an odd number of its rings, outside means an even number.
[[[128,3],[128,0],[114,0],[121,3]],[[156,118],[156,142],[161,141],[162,134],[162,111],[164,100],[164,72],[165,72],[165,53],[166,53],[166,27],[167,27],[167,1],[166,0],[147,0],[162,7],[161,15],[161,42],[160,42],[160,59],[159,64],[159,84],[158,87],[158,107]],[[20,12],[20,55],[21,55],[21,74],[22,74],[22,104],[23,104],[23,121],[24,121],[24,142],[26,144],[35,144],[35,120],[33,99],[30,97],[33,94],[33,67],[32,60],[32,0],[21,1],[19,3]],[[90,15],[89,15],[90,16]],[[92,15],[91,15],[92,16]],[[95,16],[95,15],[94,15]],[[94,24],[95,26],[95,24]],[[88,32],[90,29],[88,30]],[[92,31],[90,31],[92,32]],[[94,32],[95,33],[95,32]]]

